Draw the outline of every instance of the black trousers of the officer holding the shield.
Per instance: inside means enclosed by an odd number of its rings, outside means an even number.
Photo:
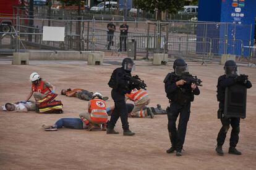
[[[221,118],[222,127],[217,137],[217,145],[222,146],[224,144],[226,134],[229,129],[229,124],[231,124],[232,131],[229,139],[229,146],[236,147],[239,139],[240,132],[240,118]]]

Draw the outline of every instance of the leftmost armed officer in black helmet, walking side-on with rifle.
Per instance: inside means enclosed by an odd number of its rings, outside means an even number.
[[[113,71],[109,80],[109,87],[112,88],[111,97],[114,100],[114,111],[108,122],[107,134],[118,134],[114,131],[114,126],[119,117],[121,117],[122,129],[124,136],[133,136],[135,133],[129,130],[128,111],[126,107],[125,94],[130,93],[134,87],[130,86],[129,80],[125,79],[126,75],[131,76],[130,72],[134,67],[134,61],[130,58],[122,60],[122,67]]]

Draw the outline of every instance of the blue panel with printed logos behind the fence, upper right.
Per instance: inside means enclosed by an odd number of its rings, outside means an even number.
[[[255,0],[199,0],[198,21],[221,22],[218,34],[212,26],[205,30],[207,34],[204,36],[213,39],[213,53],[250,56],[249,46],[254,42],[255,15]],[[202,31],[202,28],[198,29]],[[197,36],[202,36],[202,33]]]

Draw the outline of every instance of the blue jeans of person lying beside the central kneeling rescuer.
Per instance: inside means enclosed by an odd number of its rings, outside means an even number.
[[[80,118],[61,118],[55,123],[57,128],[83,129],[83,121]]]

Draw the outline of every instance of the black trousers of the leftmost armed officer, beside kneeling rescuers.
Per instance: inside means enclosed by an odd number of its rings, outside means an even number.
[[[114,110],[109,120],[108,128],[113,129],[117,122],[117,119],[121,117],[122,129],[126,130],[129,129],[128,110],[126,101],[124,100],[124,96],[123,98],[119,98],[120,96],[116,95],[117,94],[113,91],[111,92],[111,96],[114,100]]]

